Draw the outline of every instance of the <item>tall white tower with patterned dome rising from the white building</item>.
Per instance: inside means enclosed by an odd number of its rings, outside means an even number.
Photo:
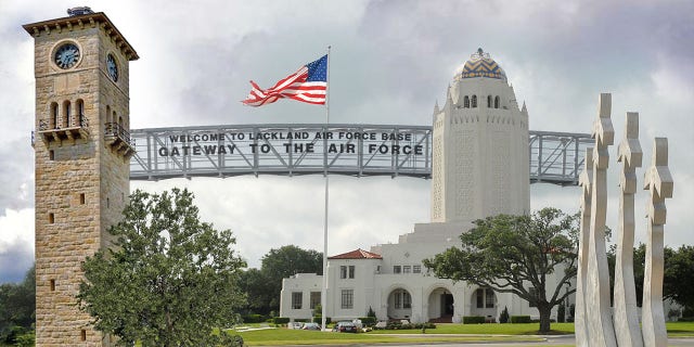
[[[489,53],[459,68],[433,118],[432,221],[401,243],[457,243],[476,219],[530,211],[528,112]]]

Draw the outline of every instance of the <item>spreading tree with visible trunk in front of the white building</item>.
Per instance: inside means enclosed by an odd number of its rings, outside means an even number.
[[[577,218],[548,207],[531,216],[499,215],[474,223],[461,234],[461,248],[451,247],[424,265],[438,278],[517,295],[537,307],[540,333],[549,332],[552,308],[576,292],[564,286],[576,277]],[[548,283],[552,274],[554,287]]]

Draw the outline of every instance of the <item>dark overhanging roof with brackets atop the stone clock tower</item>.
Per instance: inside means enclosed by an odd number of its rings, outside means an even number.
[[[116,46],[123,51],[123,54],[129,61],[137,61],[140,59],[138,52],[134,51],[132,46],[126,40],[126,38],[118,31],[118,28],[108,20],[103,12],[89,13],[80,12],[77,15],[70,15],[67,17],[42,21],[37,23],[25,24],[22,27],[34,37],[50,34],[53,30],[73,30],[75,28],[95,27],[101,26],[106,35],[108,35]]]

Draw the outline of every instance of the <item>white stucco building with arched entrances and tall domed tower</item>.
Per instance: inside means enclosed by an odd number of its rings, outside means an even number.
[[[453,321],[463,316],[498,320],[538,317],[512,294],[494,294],[426,273],[422,260],[459,246],[472,221],[498,214],[528,214],[528,113],[518,106],[504,70],[479,49],[455,73],[446,104],[433,115],[432,221],[417,223],[398,243],[329,257],[327,317],[364,317],[412,322]],[[299,273],[283,280],[281,317],[310,318],[320,304],[322,277]]]

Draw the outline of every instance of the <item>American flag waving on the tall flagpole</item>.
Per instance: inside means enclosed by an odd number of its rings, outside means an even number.
[[[248,97],[242,101],[248,106],[262,106],[283,98],[323,105],[327,89],[327,54],[301,66],[296,73],[281,79],[271,88],[264,90],[254,81],[250,81],[250,86],[253,88]]]

